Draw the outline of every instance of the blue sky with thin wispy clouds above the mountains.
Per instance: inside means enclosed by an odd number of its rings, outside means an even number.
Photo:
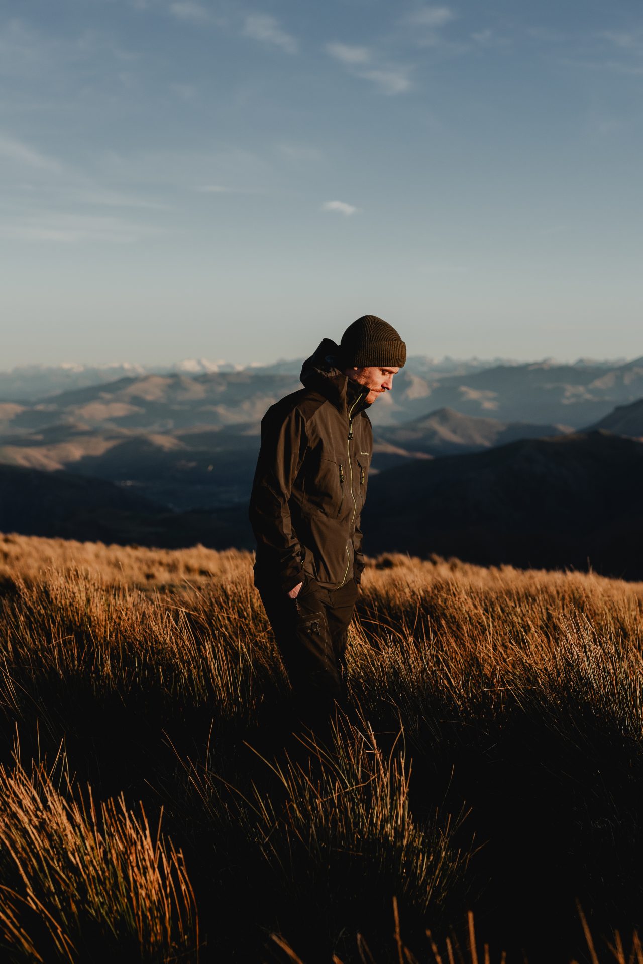
[[[638,0],[0,5],[0,368],[643,354]]]

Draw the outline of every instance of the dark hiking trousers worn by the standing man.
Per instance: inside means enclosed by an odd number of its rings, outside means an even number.
[[[355,580],[326,589],[305,575],[294,600],[258,573],[255,581],[300,718],[327,718],[335,703],[344,703],[346,639],[358,598]]]

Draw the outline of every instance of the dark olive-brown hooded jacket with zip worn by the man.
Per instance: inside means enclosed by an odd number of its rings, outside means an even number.
[[[287,592],[308,575],[337,589],[363,569],[360,514],[373,432],[368,388],[336,367],[329,338],[304,362],[305,388],[272,405],[250,501],[256,537],[255,581]]]

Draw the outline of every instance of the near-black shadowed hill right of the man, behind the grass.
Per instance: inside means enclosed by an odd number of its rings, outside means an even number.
[[[367,552],[643,578],[643,444],[605,432],[389,469],[369,484]]]

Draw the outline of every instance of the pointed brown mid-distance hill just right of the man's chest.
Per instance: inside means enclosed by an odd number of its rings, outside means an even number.
[[[395,446],[398,453],[415,458],[422,455],[456,455],[492,448],[518,439],[562,435],[565,431],[565,427],[560,425],[502,422],[496,418],[462,415],[454,409],[439,409],[401,425],[378,427],[374,450],[378,453],[381,450],[383,455],[388,455],[386,446]],[[378,458],[378,465],[380,461]]]

